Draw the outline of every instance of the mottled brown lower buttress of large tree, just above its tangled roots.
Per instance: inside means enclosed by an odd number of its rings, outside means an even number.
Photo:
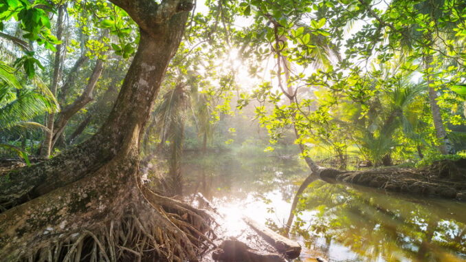
[[[127,152],[124,152],[127,153]],[[124,154],[121,154],[123,157]],[[52,235],[67,237],[82,228],[92,230],[102,223],[122,214],[122,202],[134,197],[127,190],[134,177],[136,159],[116,157],[111,165],[102,167],[87,179],[68,184],[52,193],[16,206],[0,217],[0,261],[13,261],[43,248]]]

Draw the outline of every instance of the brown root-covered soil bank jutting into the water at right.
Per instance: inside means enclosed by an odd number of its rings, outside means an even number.
[[[344,182],[390,192],[466,201],[466,159],[434,162],[426,168],[322,172],[320,178],[330,183]]]

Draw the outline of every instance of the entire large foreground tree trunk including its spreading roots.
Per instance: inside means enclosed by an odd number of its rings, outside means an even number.
[[[141,27],[118,99],[89,141],[1,177],[0,204],[8,210],[0,215],[0,261],[80,261],[85,254],[94,261],[196,260],[208,216],[152,193],[137,172],[140,137],[192,4],[113,3]]]

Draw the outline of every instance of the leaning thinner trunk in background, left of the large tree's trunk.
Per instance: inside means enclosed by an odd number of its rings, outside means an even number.
[[[93,100],[93,90],[97,85],[97,81],[102,74],[102,70],[104,69],[104,61],[98,60],[96,62],[96,66],[94,67],[91,77],[84,89],[82,94],[74,100],[71,105],[67,105],[67,107],[63,108],[60,113],[58,114],[55,122],[54,122],[54,131],[52,136],[52,149],[60,135],[65,130],[65,127],[69,121],[69,119],[74,116],[80,109],[85,107],[89,102]]]

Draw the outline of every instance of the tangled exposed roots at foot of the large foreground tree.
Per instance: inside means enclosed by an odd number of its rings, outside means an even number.
[[[206,242],[212,243],[210,216],[154,193],[151,199],[158,203],[132,206],[120,219],[92,228],[51,235],[46,245],[2,261],[197,261],[209,248]]]

